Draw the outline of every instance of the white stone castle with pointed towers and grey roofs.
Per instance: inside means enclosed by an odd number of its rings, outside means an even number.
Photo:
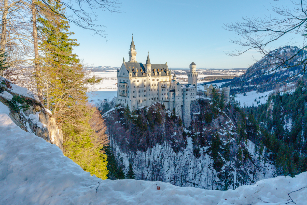
[[[190,64],[188,84],[180,84],[176,75],[165,64],[151,64],[149,53],[146,64],[136,61],[136,49],[132,37],[129,50],[129,61],[123,58],[120,69],[117,69],[117,103],[135,107],[150,106],[160,102],[165,109],[173,111],[182,118],[185,127],[191,122],[191,101],[196,100],[197,76],[196,64]]]

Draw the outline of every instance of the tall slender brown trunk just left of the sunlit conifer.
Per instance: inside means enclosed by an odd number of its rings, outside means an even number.
[[[36,28],[36,9],[35,1],[32,0],[32,21],[33,21],[33,43],[34,43],[34,71],[37,84],[37,96],[43,102],[43,86],[41,80],[41,69],[39,66],[38,55],[38,41],[37,41],[37,28]]]

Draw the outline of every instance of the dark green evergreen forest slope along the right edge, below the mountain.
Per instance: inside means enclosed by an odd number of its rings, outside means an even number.
[[[260,124],[258,139],[275,161],[278,175],[307,171],[307,92],[299,82],[293,93],[277,93],[266,104],[245,109]]]

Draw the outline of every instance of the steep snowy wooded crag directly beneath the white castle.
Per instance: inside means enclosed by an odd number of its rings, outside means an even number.
[[[234,189],[275,176],[270,152],[253,115],[231,98],[225,106],[193,102],[188,129],[174,111],[154,103],[139,110],[118,105],[103,115],[110,138],[108,178],[135,178],[205,189]]]

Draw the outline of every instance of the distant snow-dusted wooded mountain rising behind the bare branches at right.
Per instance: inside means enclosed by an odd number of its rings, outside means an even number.
[[[304,77],[302,59],[305,56],[305,51],[300,51],[296,46],[275,49],[250,66],[244,75],[222,86],[230,86],[231,93],[292,88]]]

